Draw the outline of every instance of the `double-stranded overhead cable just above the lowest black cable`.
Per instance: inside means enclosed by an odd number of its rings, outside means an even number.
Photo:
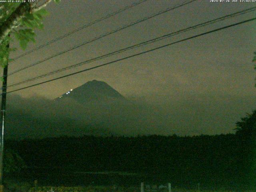
[[[46,74],[42,74],[40,76],[36,76],[34,78],[29,78],[27,80],[24,80],[24,81],[21,81],[21,82],[17,82],[17,83],[14,83],[14,84],[11,84],[9,85],[8,87],[14,87],[14,86],[18,86],[18,85],[21,85],[21,84],[24,84],[24,83],[27,83],[27,82],[31,82],[31,81],[34,81],[34,80],[37,80],[37,79],[40,79],[40,78],[44,78],[46,76],[50,76],[50,75],[53,75],[53,74],[56,74],[56,73],[59,73],[59,72],[62,72],[62,71],[65,71],[65,70],[69,70],[71,68],[75,68],[75,67],[78,67],[78,66],[82,66],[84,64],[88,64],[90,62],[94,62],[96,60],[100,60],[100,59],[103,59],[103,58],[107,58],[107,57],[110,57],[110,56],[113,56],[113,55],[116,55],[116,54],[120,54],[122,52],[125,52],[127,50],[131,50],[131,49],[134,49],[134,48],[138,48],[140,46],[144,46],[146,44],[150,44],[150,43],[153,43],[153,42],[157,42],[157,41],[160,41],[160,40],[163,40],[165,38],[169,38],[171,36],[175,36],[175,35],[178,35],[180,33],[183,33],[183,32],[187,32],[187,31],[190,31],[190,30],[194,30],[196,28],[200,28],[200,27],[203,27],[203,26],[207,26],[207,25],[210,25],[210,24],[214,24],[216,22],[220,22],[220,21],[223,21],[223,20],[226,20],[226,19],[229,19],[229,18],[232,18],[232,17],[235,17],[235,16],[240,16],[242,14],[246,14],[248,12],[252,12],[252,11],[255,11],[256,10],[256,6],[252,7],[252,8],[248,8],[246,10],[242,10],[242,11],[239,11],[239,12],[236,12],[236,13],[233,13],[233,14],[229,14],[229,15],[226,15],[226,16],[222,16],[220,18],[216,18],[216,19],[213,19],[213,20],[210,20],[210,21],[207,21],[207,22],[203,22],[201,24],[197,24],[197,25],[194,25],[194,26],[191,26],[191,27],[188,27],[188,28],[185,28],[185,29],[182,29],[182,30],[178,30],[176,32],[172,32],[172,33],[169,33],[169,34],[166,34],[164,36],[160,36],[158,38],[154,38],[154,39],[151,39],[151,40],[148,40],[148,41],[145,41],[145,42],[142,42],[142,43],[139,43],[139,44],[135,44],[133,46],[129,46],[129,47],[126,47],[126,48],[123,48],[123,49],[120,49],[120,50],[117,50],[117,51],[114,51],[114,52],[110,52],[108,54],[104,54],[102,56],[98,56],[96,58],[92,58],[92,59],[89,59],[89,60],[86,60],[84,62],[80,62],[78,64],[74,64],[74,65],[71,65],[71,66],[68,66],[68,67],[64,67],[64,68],[61,68],[61,69],[58,69],[58,70],[54,70],[52,72],[49,72],[49,73],[46,73]]]

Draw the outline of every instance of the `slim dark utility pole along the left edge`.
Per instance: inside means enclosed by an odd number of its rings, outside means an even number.
[[[8,35],[10,37],[10,34]],[[9,43],[7,44],[9,48]],[[9,58],[9,50],[7,52],[7,58]],[[7,74],[8,74],[8,60],[6,66],[4,66],[3,85],[2,85],[2,103],[1,103],[1,132],[0,132],[0,192],[4,192],[3,186],[3,155],[4,155],[4,128],[5,128],[5,109],[6,109],[6,90],[7,90]]]

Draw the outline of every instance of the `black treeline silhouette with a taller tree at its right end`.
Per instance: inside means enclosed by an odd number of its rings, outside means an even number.
[[[255,117],[238,122],[236,134],[7,140],[6,148],[28,167],[128,171],[174,184],[249,188],[256,184]]]

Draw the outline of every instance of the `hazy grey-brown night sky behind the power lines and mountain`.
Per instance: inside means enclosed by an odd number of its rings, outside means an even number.
[[[50,15],[44,20],[45,29],[36,31],[36,44],[31,43],[27,50],[132,2],[134,1],[62,0],[59,5],[51,3],[47,7]],[[182,2],[184,1],[148,0],[12,62],[9,72]],[[8,78],[8,84],[253,6],[256,6],[256,3],[211,3],[210,0],[198,0],[14,74]],[[103,64],[254,16],[255,12],[252,12],[227,19],[15,88]],[[255,21],[248,22],[102,68],[18,91],[15,94],[24,98],[34,98],[37,95],[54,99],[87,81],[102,80],[127,98],[144,103],[150,102],[158,107],[164,106],[166,110],[163,110],[163,113],[166,111],[168,118],[172,119],[173,117],[175,130],[180,134],[232,132],[235,122],[246,112],[255,109],[255,71],[251,62],[253,52],[256,51],[255,26]],[[12,46],[18,47],[16,42]],[[18,56],[22,52],[18,49],[11,57]],[[14,90],[14,88],[9,90]],[[181,118],[182,116],[186,116],[186,118]],[[164,121],[164,118],[162,120]],[[159,133],[159,129],[155,127],[152,133]],[[167,134],[167,132],[174,133],[172,128],[166,132],[160,131],[162,134]],[[139,133],[140,131],[138,131]]]

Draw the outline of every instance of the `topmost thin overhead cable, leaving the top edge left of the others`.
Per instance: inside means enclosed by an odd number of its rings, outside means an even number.
[[[72,35],[72,34],[78,32],[78,31],[80,31],[80,30],[82,30],[82,29],[84,29],[84,28],[87,28],[87,27],[89,27],[89,26],[92,26],[92,25],[94,25],[94,24],[96,24],[96,23],[98,23],[98,22],[100,22],[100,21],[103,21],[103,20],[108,19],[108,18],[110,18],[110,17],[112,17],[112,16],[115,16],[115,15],[117,15],[117,14],[119,14],[119,13],[125,11],[125,10],[128,10],[128,9],[134,7],[134,6],[137,6],[137,5],[139,5],[139,4],[142,4],[142,3],[146,2],[146,1],[147,1],[147,0],[140,0],[140,1],[134,2],[134,3],[128,5],[128,6],[124,7],[124,8],[121,8],[120,10],[117,10],[117,11],[115,11],[115,12],[112,12],[112,13],[110,13],[110,14],[107,14],[106,16],[103,16],[103,17],[101,17],[101,18],[99,18],[99,19],[97,19],[97,20],[94,20],[94,21],[92,21],[92,22],[90,22],[90,23],[88,23],[88,24],[85,24],[85,25],[83,25],[83,26],[81,26],[81,27],[79,27],[79,28],[77,28],[77,29],[75,29],[75,30],[72,30],[72,31],[70,31],[70,32],[68,32],[68,33],[66,33],[66,34],[64,34],[64,35],[62,35],[62,36],[59,36],[59,37],[57,37],[57,38],[55,38],[55,39],[53,39],[53,40],[50,40],[50,41],[46,42],[45,44],[42,44],[42,45],[40,45],[40,46],[38,46],[38,47],[36,47],[36,48],[34,48],[34,49],[28,51],[28,52],[25,52],[24,54],[21,54],[21,55],[15,57],[15,58],[13,58],[13,61],[14,61],[14,60],[17,60],[18,58],[21,58],[21,57],[23,57],[23,56],[25,56],[25,55],[28,55],[28,54],[30,54],[30,53],[36,51],[36,50],[39,50],[39,49],[41,49],[41,48],[43,48],[43,47],[45,47],[45,46],[48,46],[48,45],[50,45],[50,44],[52,44],[52,43],[54,43],[54,42],[56,42],[56,41],[58,41],[58,40],[61,40],[61,39],[65,38],[65,37],[67,37],[67,36],[70,36],[70,35]]]

